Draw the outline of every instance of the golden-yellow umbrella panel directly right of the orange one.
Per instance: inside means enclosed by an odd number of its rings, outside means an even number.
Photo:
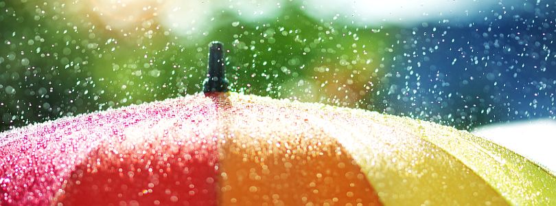
[[[384,205],[507,205],[459,159],[408,133],[399,117],[340,110],[315,119],[331,119],[321,126],[354,156]]]

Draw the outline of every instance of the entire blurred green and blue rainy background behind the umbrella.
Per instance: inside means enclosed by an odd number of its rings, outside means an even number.
[[[555,2],[430,2],[0,0],[0,131],[198,93],[210,41],[239,93],[466,130],[555,119]]]

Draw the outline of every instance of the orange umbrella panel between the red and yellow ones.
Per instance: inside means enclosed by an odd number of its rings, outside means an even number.
[[[220,152],[220,204],[381,205],[351,155],[306,119],[231,102],[224,108],[229,135]]]

